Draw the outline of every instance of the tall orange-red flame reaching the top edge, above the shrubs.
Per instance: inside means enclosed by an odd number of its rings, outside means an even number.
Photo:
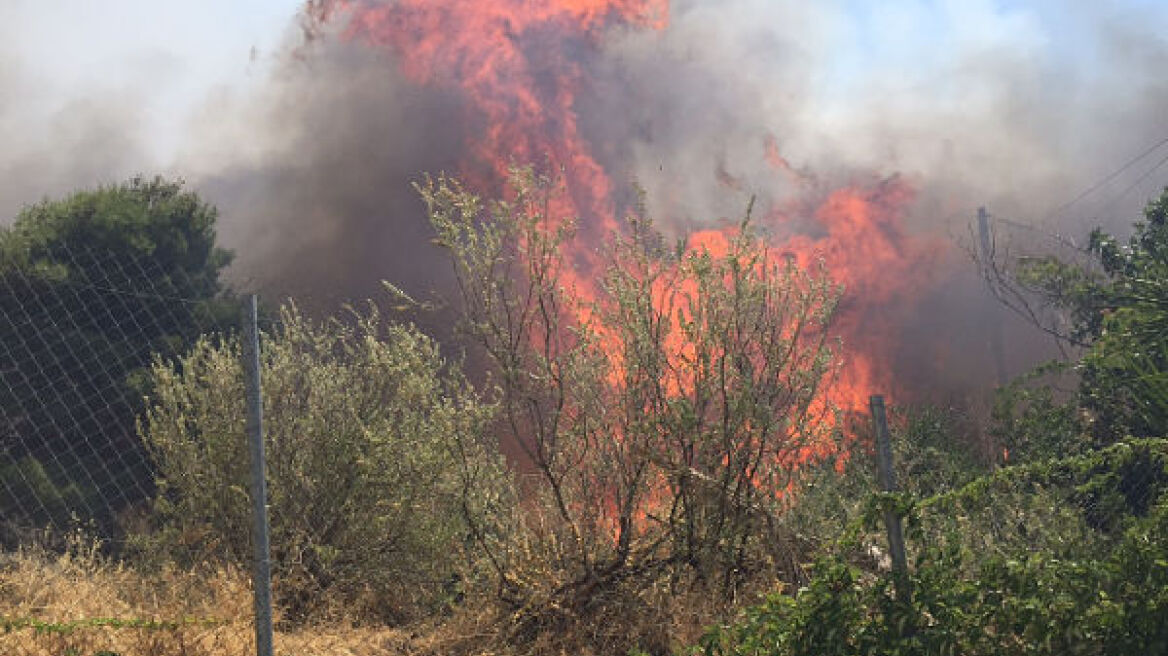
[[[512,162],[545,162],[566,172],[577,211],[598,221],[602,232],[617,228],[611,182],[577,127],[575,105],[585,74],[569,50],[597,49],[616,25],[663,29],[668,0],[343,5],[354,5],[350,37],[392,53],[412,81],[459,89],[471,100],[467,123],[479,137],[464,177],[498,184]],[[558,47],[533,53],[530,42],[541,35]]]

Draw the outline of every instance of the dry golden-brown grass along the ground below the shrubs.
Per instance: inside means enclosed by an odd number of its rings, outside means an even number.
[[[471,598],[440,621],[411,628],[278,630],[276,654],[599,656],[625,654],[630,644],[668,654],[728,610],[700,591],[658,586],[614,589],[583,612],[533,601],[516,613],[493,598]],[[238,570],[144,573],[76,546],[63,556],[0,554],[0,656],[242,656],[255,654],[253,630],[249,577]]]

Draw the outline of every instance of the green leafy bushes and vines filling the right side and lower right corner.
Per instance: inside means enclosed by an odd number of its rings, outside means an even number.
[[[1066,312],[1065,337],[1083,349],[999,392],[993,430],[1008,462],[1024,465],[959,489],[874,497],[806,585],[711,629],[697,650],[1168,651],[1168,442],[1132,437],[1168,430],[1168,190],[1145,216],[1125,247],[1092,233],[1085,266],[1052,257],[1016,266],[1017,280]],[[1073,392],[1042,383],[1068,369]],[[903,595],[871,558],[887,508],[910,525]]]

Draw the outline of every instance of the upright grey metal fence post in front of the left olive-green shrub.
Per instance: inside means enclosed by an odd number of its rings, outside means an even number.
[[[253,528],[252,587],[256,593],[256,654],[272,656],[272,563],[267,536],[267,483],[264,477],[264,399],[259,377],[259,327],[256,295],[243,303],[243,369],[248,397],[248,439],[251,446]]]

